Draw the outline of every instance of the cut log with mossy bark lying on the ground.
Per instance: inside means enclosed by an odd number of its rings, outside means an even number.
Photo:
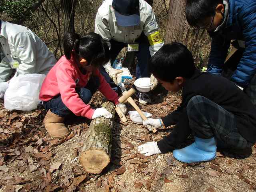
[[[102,107],[106,108],[113,118],[100,117],[92,120],[80,157],[80,164],[84,170],[92,174],[99,174],[110,162],[115,105],[107,101]]]

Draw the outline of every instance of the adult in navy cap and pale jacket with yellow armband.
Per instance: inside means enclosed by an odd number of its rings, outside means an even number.
[[[152,7],[146,1],[105,0],[96,15],[95,32],[111,44],[111,60],[104,66],[105,69],[101,69],[101,73],[112,87],[116,85],[110,78],[115,80],[118,70],[113,69],[111,64],[126,46],[128,51],[136,51],[136,78],[150,77],[148,61],[164,42]],[[137,95],[139,102],[151,102],[146,93]]]

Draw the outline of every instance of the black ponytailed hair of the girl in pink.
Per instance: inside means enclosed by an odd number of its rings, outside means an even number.
[[[99,34],[90,32],[80,38],[76,33],[66,33],[63,37],[64,54],[68,60],[72,59],[74,50],[76,57],[82,57],[93,66],[100,66],[110,59],[108,43]]]

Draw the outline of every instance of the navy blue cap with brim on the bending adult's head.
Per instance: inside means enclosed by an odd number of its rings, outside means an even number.
[[[139,0],[113,0],[116,21],[120,26],[136,26],[140,24]]]

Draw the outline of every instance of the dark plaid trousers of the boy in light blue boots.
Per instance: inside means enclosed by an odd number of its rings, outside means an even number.
[[[215,137],[221,148],[248,148],[253,145],[238,132],[234,114],[203,96],[188,102],[187,113],[192,133],[202,139]]]

